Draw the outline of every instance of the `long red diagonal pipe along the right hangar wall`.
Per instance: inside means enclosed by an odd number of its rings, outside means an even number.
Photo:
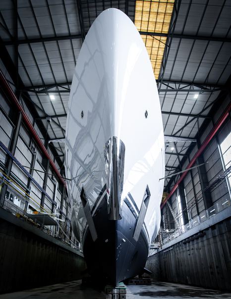
[[[187,167],[185,169],[188,169],[190,167],[192,167],[192,165],[196,162],[196,159],[201,155],[201,153],[205,150],[205,148],[208,146],[208,144],[210,143],[210,141],[213,139],[213,137],[215,136],[215,134],[218,132],[218,130],[220,129],[220,127],[222,126],[222,124],[224,123],[224,121],[227,119],[227,117],[229,116],[229,112],[231,110],[231,103],[229,104],[229,106],[227,107],[226,111],[224,112],[224,114],[220,117],[220,119],[218,120],[218,122],[215,124],[215,126],[213,127],[213,129],[210,131],[210,134],[206,137],[206,139],[204,140],[204,142],[202,143],[200,149],[198,149],[198,151],[195,153],[195,155],[193,156],[193,158],[191,159],[191,161],[189,162],[189,164],[187,165]],[[183,172],[183,174],[180,176],[180,178],[178,179],[178,181],[175,183],[175,185],[173,186],[173,189],[170,191],[169,195],[167,196],[167,198],[165,199],[165,201],[163,202],[163,204],[161,205],[161,209],[163,209],[164,205],[166,204],[167,200],[170,199],[170,197],[173,195],[173,193],[175,192],[175,190],[177,189],[179,183],[185,178],[186,174],[188,173],[188,170]]]

